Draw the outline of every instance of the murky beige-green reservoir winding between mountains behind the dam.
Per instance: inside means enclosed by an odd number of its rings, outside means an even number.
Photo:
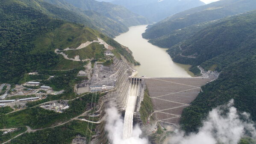
[[[192,77],[188,71],[190,65],[177,64],[166,52],[167,49],[154,46],[142,38],[147,25],[132,26],[129,31],[115,38],[120,44],[129,47],[136,61],[141,65],[135,66],[137,76],[146,77]]]

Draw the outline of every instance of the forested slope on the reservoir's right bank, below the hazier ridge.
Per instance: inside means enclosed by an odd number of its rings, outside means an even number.
[[[211,24],[168,50],[175,62],[221,71],[255,52],[256,11]],[[193,56],[193,58],[190,58]]]

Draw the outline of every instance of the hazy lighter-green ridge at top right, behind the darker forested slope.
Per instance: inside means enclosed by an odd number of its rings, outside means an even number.
[[[204,6],[179,12],[159,23],[149,26],[143,34],[144,38],[160,47],[171,47],[204,26],[202,23],[225,18],[256,9],[255,0],[220,0]],[[194,31],[194,32],[192,32]],[[190,36],[189,35],[189,36]]]

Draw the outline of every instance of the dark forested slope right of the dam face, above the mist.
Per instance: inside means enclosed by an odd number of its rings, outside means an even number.
[[[256,56],[232,63],[219,78],[202,87],[203,92],[184,109],[180,121],[186,132],[196,132],[213,108],[235,100],[240,112],[249,112],[256,121]]]

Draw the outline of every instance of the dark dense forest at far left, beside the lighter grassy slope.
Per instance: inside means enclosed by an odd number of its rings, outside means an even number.
[[[35,46],[30,41],[64,22],[12,0],[1,0],[0,8],[0,80],[18,82],[28,71],[56,65],[58,56],[54,52],[31,54]]]

